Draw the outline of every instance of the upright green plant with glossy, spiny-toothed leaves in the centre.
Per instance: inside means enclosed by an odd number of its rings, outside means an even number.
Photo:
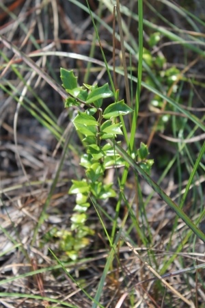
[[[77,259],[79,250],[89,243],[87,235],[93,234],[93,230],[85,224],[87,208],[90,207],[89,199],[100,201],[114,197],[116,193],[113,183],[107,184],[103,181],[105,170],[126,164],[121,155],[115,152],[115,146],[111,146],[106,140],[115,140],[118,135],[123,135],[119,117],[126,116],[133,110],[124,100],[118,101],[118,97],[114,103],[102,110],[103,99],[114,97],[108,84],[101,87],[87,84],[78,86],[73,71],[64,68],[61,68],[61,81],[69,95],[65,107],[79,108],[73,124],[85,146],[85,153],[81,155],[81,166],[85,168],[86,178],[72,180],[69,194],[77,195],[76,205],[71,217],[72,233],[64,236],[64,241],[70,243],[68,249],[64,245],[64,250],[71,259]],[[148,147],[141,143],[134,157],[146,172],[150,172],[153,164],[152,159],[147,159],[148,154]]]

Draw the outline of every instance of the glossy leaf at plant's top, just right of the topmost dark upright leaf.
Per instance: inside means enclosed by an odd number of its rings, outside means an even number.
[[[107,97],[113,97],[113,92],[109,90],[108,84],[100,88],[95,88],[88,94],[86,103],[94,103],[95,101],[99,100],[98,105],[96,107],[100,108],[102,105],[102,99],[107,99]]]

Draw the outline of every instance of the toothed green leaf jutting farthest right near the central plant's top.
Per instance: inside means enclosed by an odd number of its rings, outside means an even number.
[[[105,111],[103,112],[103,118],[113,118],[115,116],[125,116],[126,114],[129,114],[133,112],[133,110],[128,107],[124,103],[124,99],[122,101],[118,101],[118,103],[112,103],[107,108],[105,108]]]

